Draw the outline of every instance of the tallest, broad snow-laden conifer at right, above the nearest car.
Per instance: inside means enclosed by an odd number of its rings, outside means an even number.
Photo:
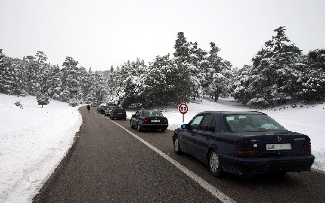
[[[252,98],[248,105],[286,102],[292,99],[295,86],[302,82],[302,71],[307,66],[300,63],[302,52],[295,44],[290,44],[284,31],[284,27],[275,29],[277,35],[252,59],[253,71],[248,88]]]

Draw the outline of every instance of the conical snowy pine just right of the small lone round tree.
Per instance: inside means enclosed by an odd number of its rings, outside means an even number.
[[[50,97],[58,100],[64,99],[59,64],[52,66],[49,70],[46,86],[48,87],[47,92]]]

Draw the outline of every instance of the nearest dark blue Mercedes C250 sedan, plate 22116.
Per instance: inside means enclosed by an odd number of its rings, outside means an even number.
[[[308,136],[253,111],[198,113],[174,131],[173,142],[176,154],[193,155],[216,177],[310,171],[315,160]]]

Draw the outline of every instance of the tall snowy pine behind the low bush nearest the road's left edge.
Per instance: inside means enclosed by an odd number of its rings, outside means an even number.
[[[78,95],[78,88],[80,87],[80,77],[78,71],[78,61],[72,57],[67,56],[62,64],[62,84],[65,87],[64,93],[67,100]],[[67,88],[66,88],[67,87]],[[70,95],[66,91],[70,91]]]

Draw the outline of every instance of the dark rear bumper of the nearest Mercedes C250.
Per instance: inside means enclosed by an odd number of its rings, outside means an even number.
[[[263,174],[266,172],[300,172],[310,171],[314,155],[271,157],[271,158],[237,158],[218,154],[224,171],[237,175]]]

